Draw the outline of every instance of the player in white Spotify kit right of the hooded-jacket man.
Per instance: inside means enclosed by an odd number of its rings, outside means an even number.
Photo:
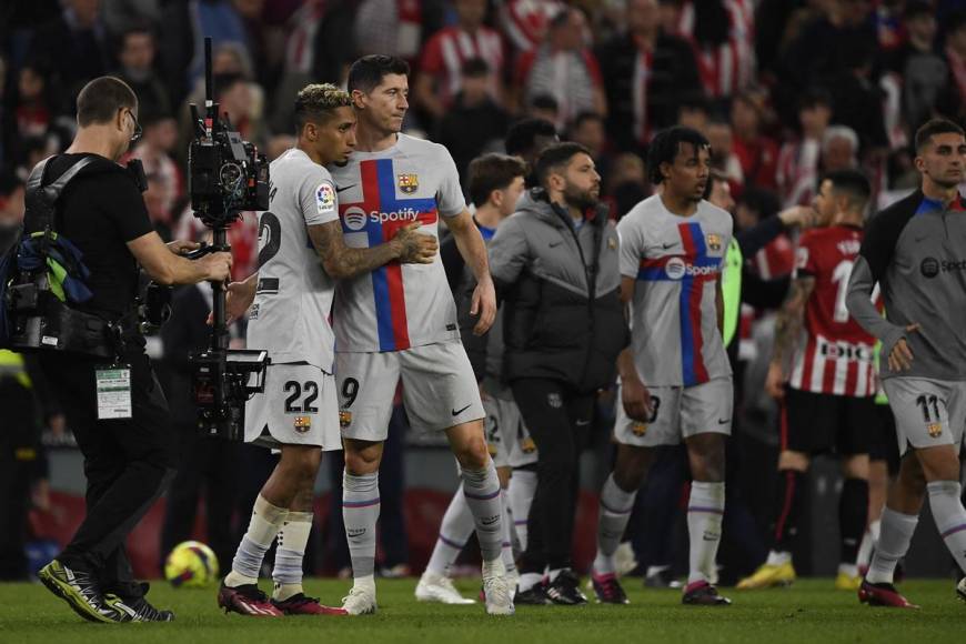
[[[693,483],[687,504],[691,572],[683,602],[726,605],[711,584],[724,515],[725,436],[732,423],[732,371],[721,329],[721,274],[732,217],[704,200],[711,148],[688,128],[654,138],[647,167],[658,194],[617,224],[621,295],[630,304],[631,346],[618,358],[621,399],[614,427],[617,460],[601,492],[597,600],[627,603],[614,553],[637,489],[652,462],[648,447],[687,447]]]

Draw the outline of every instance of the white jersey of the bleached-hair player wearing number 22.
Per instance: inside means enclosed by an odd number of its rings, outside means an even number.
[[[259,286],[248,345],[268,350],[274,363],[308,362],[331,374],[334,283],[308,227],[339,219],[335,185],[325,168],[294,148],[272,161],[269,175],[269,210],[259,213]]]

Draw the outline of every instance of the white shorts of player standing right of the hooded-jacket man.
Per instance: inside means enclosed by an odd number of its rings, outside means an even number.
[[[632,420],[617,391],[614,437],[624,445],[677,445],[697,434],[732,433],[732,379],[716,378],[694,386],[651,386],[654,412],[645,422]]]

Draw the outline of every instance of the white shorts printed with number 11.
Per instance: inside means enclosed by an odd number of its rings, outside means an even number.
[[[966,425],[966,382],[893,376],[882,381],[896,419],[899,454],[912,445],[963,446]]]

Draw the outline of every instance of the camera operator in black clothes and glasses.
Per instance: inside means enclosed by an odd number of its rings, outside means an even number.
[[[223,281],[231,254],[190,261],[181,254],[197,244],[165,245],[154,232],[139,182],[117,164],[140,134],[138,99],[130,87],[112,77],[92,80],[78,94],[77,121],[73,143],[47,162],[42,184],[91,158],[64,188],[51,223],[59,237],[77,246],[90,271],[85,283],[93,296],[76,308],[121,331],[113,343],[113,363],[66,351],[39,354],[84,455],[88,509],[71,542],[40,577],[92,622],[171,621],[171,612],[158,611],[144,598],[147,584],[134,581],[124,552],[125,537],[175,471],[168,402],[138,331],[138,264],[161,284]],[[30,203],[28,193],[28,234],[44,225]],[[105,412],[98,395],[104,373],[99,370],[108,366],[130,370],[130,403],[114,414]],[[127,417],[101,420],[108,415]]]

